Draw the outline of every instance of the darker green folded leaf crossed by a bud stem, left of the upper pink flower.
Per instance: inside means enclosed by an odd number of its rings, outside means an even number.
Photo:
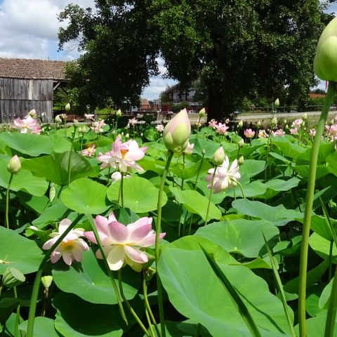
[[[22,162],[22,167],[44,177],[57,185],[68,184],[68,166],[70,160],[70,181],[78,178],[95,176],[91,164],[77,152],[52,153],[48,156],[27,159]]]

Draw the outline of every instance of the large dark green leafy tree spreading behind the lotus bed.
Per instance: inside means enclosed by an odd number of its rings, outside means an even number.
[[[199,79],[220,118],[252,95],[304,101],[324,17],[319,0],[96,0],[60,18],[60,46],[80,38],[86,51],[69,71],[81,97],[134,103],[161,55],[185,90]]]

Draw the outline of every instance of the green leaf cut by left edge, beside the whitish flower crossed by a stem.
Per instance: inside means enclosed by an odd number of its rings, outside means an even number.
[[[22,274],[39,269],[44,255],[34,241],[4,227],[0,227],[0,237],[0,275],[7,267],[15,267]]]

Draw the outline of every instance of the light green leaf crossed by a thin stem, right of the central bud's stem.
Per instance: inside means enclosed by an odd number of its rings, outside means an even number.
[[[201,195],[199,192],[194,190],[180,190],[178,187],[170,187],[171,192],[176,197],[180,204],[183,204],[185,209],[190,213],[199,214],[201,218],[206,220],[207,205],[209,204],[209,199]],[[218,207],[211,202],[209,207],[208,220],[221,218],[221,212]]]

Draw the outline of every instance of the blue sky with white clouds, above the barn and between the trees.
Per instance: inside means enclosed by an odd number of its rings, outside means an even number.
[[[74,44],[58,52],[57,15],[72,2],[81,7],[93,7],[93,0],[0,0],[0,57],[36,58],[39,60],[74,60],[79,53]],[[329,12],[337,13],[337,4],[329,6]],[[64,26],[65,27],[65,26]],[[164,61],[158,59],[159,70],[164,74]],[[163,79],[160,75],[150,79],[142,97],[159,98],[167,86],[176,81]],[[322,88],[325,84],[320,84]]]

